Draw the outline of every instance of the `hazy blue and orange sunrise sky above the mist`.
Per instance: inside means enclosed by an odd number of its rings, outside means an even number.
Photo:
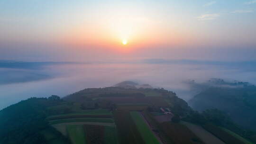
[[[256,0],[0,0],[1,60],[159,58],[256,60]]]

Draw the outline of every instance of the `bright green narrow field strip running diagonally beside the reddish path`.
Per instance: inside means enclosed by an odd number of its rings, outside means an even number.
[[[160,144],[139,112],[133,111],[130,115],[146,144]]]

